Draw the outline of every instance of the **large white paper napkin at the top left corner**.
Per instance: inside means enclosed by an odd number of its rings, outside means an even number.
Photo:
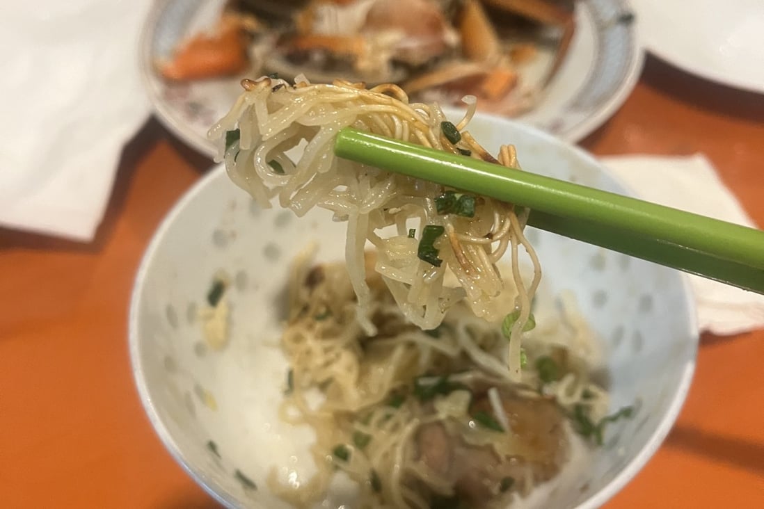
[[[0,225],[92,240],[122,147],[150,107],[138,37],[151,0],[0,9]]]

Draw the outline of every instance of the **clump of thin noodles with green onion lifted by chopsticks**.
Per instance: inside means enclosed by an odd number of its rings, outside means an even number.
[[[474,197],[472,217],[439,214],[436,198],[449,191],[442,185],[359,165],[333,153],[338,131],[348,126],[517,168],[514,148],[501,147],[494,159],[469,134],[466,127],[475,111],[472,96],[465,97],[465,117],[444,124],[447,119],[438,105],[410,104],[397,85],[366,89],[342,80],[331,85],[310,84],[304,77],[295,81],[290,85],[269,77],[244,79],[244,93],[209,131],[231,179],[263,207],[270,207],[270,200],[277,197],[280,206],[298,216],[318,206],[332,211],[335,220],[347,221],[345,262],[358,298],[358,321],[369,336],[376,330],[368,316],[367,241],[377,250],[374,270],[406,318],[422,330],[438,327],[448,309],[461,300],[487,321],[500,320],[513,311],[513,305],[519,316],[511,327],[504,360],[481,350],[471,354],[494,375],[519,381],[520,337],[541,278],[536,253],[523,235],[527,211]],[[458,132],[445,132],[448,127]],[[287,152],[298,146],[303,153],[293,161]],[[383,236],[380,230],[385,227],[392,227],[394,234]],[[430,246],[435,248],[434,254],[430,251],[435,263],[418,256],[428,230],[442,231]],[[534,267],[527,283],[520,275],[520,246]],[[511,288],[505,288],[497,268],[507,250]],[[505,299],[497,298],[504,291],[514,294],[509,309]]]

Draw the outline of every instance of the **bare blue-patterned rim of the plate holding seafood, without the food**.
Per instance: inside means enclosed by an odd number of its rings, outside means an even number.
[[[217,9],[215,8],[217,5]],[[158,0],[141,37],[144,85],[162,123],[207,156],[215,148],[209,127],[228,112],[241,92],[241,78],[170,83],[154,68],[176,44],[209,26],[219,2]],[[626,0],[579,0],[576,34],[565,62],[532,110],[516,118],[575,142],[600,127],[630,94],[643,65],[631,8]]]

